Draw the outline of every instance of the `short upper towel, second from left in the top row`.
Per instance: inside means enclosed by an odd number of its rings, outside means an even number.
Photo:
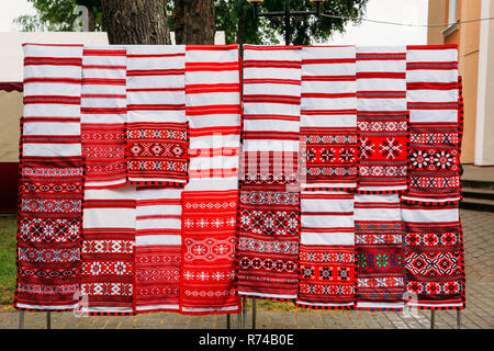
[[[114,188],[125,176],[125,47],[85,46],[81,144],[86,188]]]

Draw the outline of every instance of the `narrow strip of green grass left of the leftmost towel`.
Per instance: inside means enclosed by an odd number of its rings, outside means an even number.
[[[0,309],[13,304],[16,231],[16,217],[0,217]]]

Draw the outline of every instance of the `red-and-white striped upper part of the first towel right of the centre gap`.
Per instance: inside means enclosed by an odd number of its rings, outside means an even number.
[[[244,150],[299,151],[300,46],[244,46]]]

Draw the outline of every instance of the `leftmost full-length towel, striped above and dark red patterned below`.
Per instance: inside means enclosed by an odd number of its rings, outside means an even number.
[[[14,298],[19,309],[64,310],[77,304],[81,64],[81,45],[24,45]]]

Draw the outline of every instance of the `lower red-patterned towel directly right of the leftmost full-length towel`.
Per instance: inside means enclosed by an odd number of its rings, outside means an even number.
[[[133,314],[135,185],[85,191],[81,312]]]

